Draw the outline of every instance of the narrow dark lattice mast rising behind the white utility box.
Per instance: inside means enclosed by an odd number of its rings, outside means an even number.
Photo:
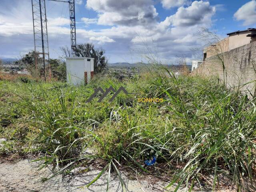
[[[69,1],[70,14],[70,35],[71,35],[71,54],[76,56],[74,49],[76,48],[76,18],[75,18],[75,0]]]

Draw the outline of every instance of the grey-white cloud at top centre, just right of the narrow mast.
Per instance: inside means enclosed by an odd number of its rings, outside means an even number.
[[[152,0],[87,0],[86,7],[99,13],[102,25],[148,25],[158,15]]]

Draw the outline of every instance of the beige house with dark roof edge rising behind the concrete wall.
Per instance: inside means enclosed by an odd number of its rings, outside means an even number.
[[[250,44],[256,41],[256,28],[248,28],[244,31],[236,31],[227,34],[228,37],[204,49],[204,58],[230,51],[232,49]]]

